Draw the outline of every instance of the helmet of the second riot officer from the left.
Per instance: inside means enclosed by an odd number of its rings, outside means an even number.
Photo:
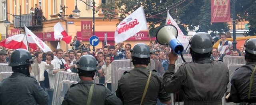
[[[78,75],[94,77],[97,67],[97,61],[92,55],[83,55],[78,60]]]

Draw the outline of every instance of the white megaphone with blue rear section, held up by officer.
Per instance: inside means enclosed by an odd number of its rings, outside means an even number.
[[[164,25],[156,33],[156,41],[161,45],[169,45],[174,54],[181,54],[183,45],[178,41],[178,30],[173,25]]]

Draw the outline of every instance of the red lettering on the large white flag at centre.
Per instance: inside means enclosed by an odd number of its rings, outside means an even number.
[[[135,26],[138,25],[139,23],[140,23],[140,22],[138,22],[137,19],[134,19],[134,21],[132,21],[132,22],[130,22],[130,23],[128,23],[128,24],[126,24],[126,22],[124,22],[124,23],[121,23],[121,24],[120,24],[121,27],[118,28],[118,29],[116,29],[116,30],[118,31],[118,34],[120,34],[120,33],[123,33],[123,32],[125,32],[125,31],[127,31],[127,30],[129,30],[129,29],[135,27]]]

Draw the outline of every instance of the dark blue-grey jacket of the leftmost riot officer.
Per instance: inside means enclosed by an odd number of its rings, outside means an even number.
[[[0,82],[0,105],[47,105],[49,95],[36,79],[14,72]]]

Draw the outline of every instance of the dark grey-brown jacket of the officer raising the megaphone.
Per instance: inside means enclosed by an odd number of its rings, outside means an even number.
[[[168,93],[184,91],[184,105],[221,105],[229,82],[229,71],[222,61],[211,59],[185,63],[174,73],[174,64],[164,74],[164,89]]]

